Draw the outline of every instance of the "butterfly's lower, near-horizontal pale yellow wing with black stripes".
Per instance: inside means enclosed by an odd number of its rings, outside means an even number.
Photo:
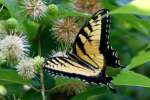
[[[85,64],[75,57],[52,57],[44,63],[44,69],[53,74],[63,74],[68,77],[94,77],[99,72],[92,70],[90,65]]]

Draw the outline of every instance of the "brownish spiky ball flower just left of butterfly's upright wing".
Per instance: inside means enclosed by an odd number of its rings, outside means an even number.
[[[66,17],[57,21],[52,30],[57,40],[72,43],[79,31],[79,26],[74,18]]]

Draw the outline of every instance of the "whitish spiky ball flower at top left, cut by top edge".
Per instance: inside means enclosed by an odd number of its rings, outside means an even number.
[[[42,0],[24,0],[24,8],[27,16],[33,19],[43,16],[47,10],[47,6]]]

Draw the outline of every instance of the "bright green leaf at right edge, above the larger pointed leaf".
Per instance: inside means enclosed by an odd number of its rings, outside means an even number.
[[[150,51],[142,50],[131,60],[130,64],[127,66],[127,69],[133,69],[149,61]]]

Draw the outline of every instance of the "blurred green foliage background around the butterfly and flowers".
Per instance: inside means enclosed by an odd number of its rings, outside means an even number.
[[[38,55],[38,41],[41,43],[41,55],[43,57],[59,47],[58,42],[52,38],[51,31],[49,31],[56,19],[65,16],[87,17],[85,12],[67,9],[70,8],[71,0],[45,0],[45,2],[47,2],[47,5],[56,4],[59,16],[49,14],[48,17],[37,22],[26,19],[18,12],[20,8],[16,0],[0,0],[0,6],[5,8],[0,11],[0,20],[5,21],[11,17],[17,20],[18,26],[22,26],[18,27],[18,30],[26,33],[31,44],[31,57]],[[101,0],[98,2],[111,11],[111,44],[119,52],[121,64],[127,66],[121,70],[108,70],[108,73],[114,77],[113,84],[118,93],[114,94],[105,87],[100,86],[86,86],[86,89],[83,89],[79,87],[82,84],[80,81],[65,78],[55,79],[44,73],[44,85],[49,90],[45,94],[46,98],[56,99],[57,97],[58,100],[149,100],[150,2],[148,0]],[[42,27],[40,31],[39,26]],[[40,90],[38,79],[24,80],[17,74],[15,69],[6,66],[1,65],[0,68],[1,99],[42,99],[40,91],[33,88],[24,89],[26,84]],[[77,84],[78,82],[79,84]],[[69,87],[70,85],[72,87]],[[74,92],[79,89],[81,89],[80,93]]]

